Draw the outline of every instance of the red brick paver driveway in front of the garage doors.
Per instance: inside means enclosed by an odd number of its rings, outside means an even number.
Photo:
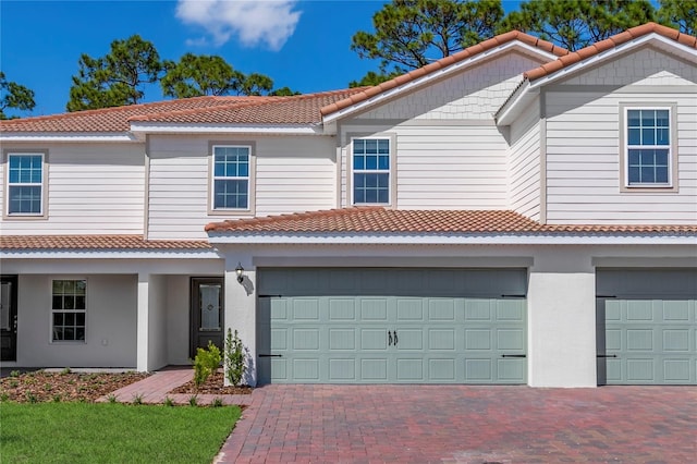
[[[697,388],[268,386],[219,462],[697,461]]]

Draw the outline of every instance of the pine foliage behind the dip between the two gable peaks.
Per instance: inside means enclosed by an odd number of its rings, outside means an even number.
[[[653,21],[649,0],[529,0],[501,23],[574,51]]]

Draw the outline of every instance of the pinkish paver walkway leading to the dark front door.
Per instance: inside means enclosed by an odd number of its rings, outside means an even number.
[[[109,396],[115,396],[121,403],[130,403],[135,398],[139,398],[143,403],[157,404],[163,403],[167,398],[172,400],[174,404],[188,404],[191,394],[187,393],[170,393],[176,387],[183,386],[194,378],[194,369],[186,368],[167,368],[158,370],[150,377],[131,383],[119,389],[106,396],[97,400],[98,402],[109,401]],[[223,404],[247,405],[252,403],[250,394],[197,394],[197,404],[210,404],[215,399],[220,399]]]

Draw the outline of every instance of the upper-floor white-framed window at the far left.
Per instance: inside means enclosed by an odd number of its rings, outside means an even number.
[[[8,154],[8,216],[44,216],[44,157],[41,152]]]

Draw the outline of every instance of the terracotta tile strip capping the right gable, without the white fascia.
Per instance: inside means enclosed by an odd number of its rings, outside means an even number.
[[[675,40],[682,45],[687,47],[697,48],[697,38],[689,36],[687,34],[681,34],[678,30],[673,28],[662,26],[656,23],[646,23],[640,26],[632,27],[623,33],[616,34],[612,37],[609,37],[604,40],[600,40],[591,46],[586,48],[582,48],[580,50],[576,50],[568,54],[565,54],[558,60],[551,61],[549,63],[542,64],[539,68],[536,68],[531,71],[528,71],[524,74],[524,76],[528,81],[535,81],[540,77],[545,77],[546,75],[552,74],[562,68],[566,68],[571,64],[578,63],[579,61],[586,60],[592,56],[596,56],[602,51],[609,50],[619,45],[625,44],[629,40],[634,40],[638,37],[643,37],[648,34],[659,34],[663,37],[667,37],[671,40]]]

